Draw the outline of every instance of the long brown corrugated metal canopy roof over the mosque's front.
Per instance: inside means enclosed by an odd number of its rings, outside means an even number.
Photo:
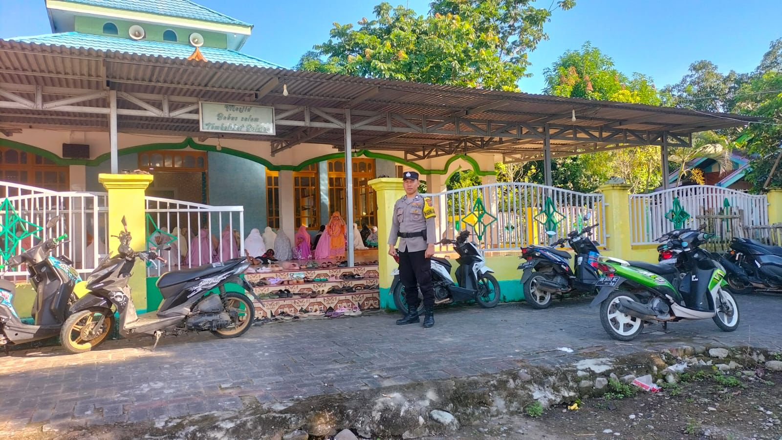
[[[189,49],[187,46],[183,48]],[[188,54],[189,55],[189,54]],[[124,48],[74,48],[69,45],[38,44],[30,41],[0,40],[0,83],[70,87],[81,90],[106,90],[109,83],[115,90],[142,94],[165,94],[172,97],[192,97],[201,101],[250,102],[260,105],[307,105],[321,108],[348,108],[354,115],[361,111],[395,112],[400,114],[453,117],[467,115],[483,120],[529,122],[565,127],[577,127],[597,133],[601,128],[626,128],[639,133],[669,131],[687,136],[703,130],[741,126],[758,120],[753,117],[694,112],[682,108],[662,108],[650,105],[626,104],[609,101],[590,101],[539,94],[524,94],[500,90],[479,90],[396,80],[371,79],[328,73],[302,72],[257,65],[221,62],[188,61],[162,55],[128,53]],[[269,80],[278,84],[258,99],[256,93]],[[282,93],[287,85],[288,95]],[[30,94],[27,99],[33,99]],[[47,96],[46,100],[53,98]],[[105,102],[96,106],[105,108]],[[132,107],[120,100],[120,107]],[[576,122],[571,112],[576,111]],[[0,122],[24,123],[38,120],[39,124],[67,124],[66,118],[53,118],[52,112],[39,112],[35,117],[19,115],[5,109]],[[58,114],[59,115],[59,114]],[[83,116],[83,115],[82,115]],[[302,116],[298,116],[302,118]],[[49,118],[49,119],[46,119]],[[357,122],[361,117],[354,117]],[[86,123],[86,122],[85,122]],[[379,122],[381,125],[384,122]],[[398,125],[398,124],[394,124]],[[453,125],[451,125],[453,126]],[[166,128],[170,127],[170,128]],[[102,126],[95,126],[102,130]],[[120,118],[120,130],[198,134],[197,121]],[[278,126],[278,138],[290,139],[296,127]],[[231,135],[232,136],[232,135]],[[436,146],[469,135],[444,136],[407,133],[378,142],[387,133],[354,130],[353,141],[373,149],[418,150],[424,145]],[[474,136],[472,136],[474,137]],[[268,137],[256,137],[268,140]],[[342,144],[341,130],[327,130],[308,140],[310,143]],[[619,139],[614,140],[615,144]],[[529,140],[526,147],[509,147],[510,143],[494,145],[481,151],[508,153],[528,150],[540,151],[540,141]],[[517,143],[518,144],[518,143]],[[583,141],[557,140],[569,151],[579,151]],[[477,149],[477,148],[475,148]],[[465,150],[467,151],[467,150]]]

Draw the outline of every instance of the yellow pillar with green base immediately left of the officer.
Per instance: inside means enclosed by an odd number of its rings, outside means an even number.
[[[381,177],[372,179],[369,185],[378,197],[378,272],[380,276],[380,307],[393,308],[391,297],[391,271],[398,267],[396,261],[388,254],[389,232],[393,220],[393,205],[404,196],[402,179]]]

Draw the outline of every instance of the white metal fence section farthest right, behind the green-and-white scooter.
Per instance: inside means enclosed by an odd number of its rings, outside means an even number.
[[[674,200],[678,199],[680,208],[686,215],[676,210]],[[668,217],[666,218],[666,214]],[[767,225],[769,221],[768,200],[766,196],[753,196],[737,190],[720,186],[680,186],[649,194],[630,195],[630,233],[633,244],[655,243],[655,239],[665,232],[676,229],[672,219],[687,218],[682,227],[698,227],[700,222],[718,216],[739,216],[744,228]],[[712,222],[713,223],[713,222]],[[710,228],[714,229],[714,228]],[[741,228],[733,228],[739,232]],[[716,228],[714,232],[723,233],[723,239],[733,229]],[[720,232],[722,231],[722,232]]]

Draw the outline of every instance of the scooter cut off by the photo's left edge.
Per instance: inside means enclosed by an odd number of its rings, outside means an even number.
[[[49,220],[46,229],[54,228],[62,217],[59,215]],[[30,312],[34,324],[24,324],[12,304],[16,284],[5,279],[0,280],[0,346],[9,342],[22,344],[59,335],[59,329],[68,316],[68,307],[76,301],[74,287],[81,281],[73,261],[64,256],[56,258],[49,255],[67,238],[67,234],[63,234],[42,241],[5,261],[5,268],[27,265],[30,284],[37,295]]]

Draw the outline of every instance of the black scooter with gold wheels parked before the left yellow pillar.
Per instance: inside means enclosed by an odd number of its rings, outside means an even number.
[[[71,307],[71,316],[60,332],[60,342],[71,353],[84,353],[106,339],[114,325],[114,311],[120,315],[120,335],[131,338],[139,335],[160,336],[171,333],[210,331],[219,338],[243,335],[253,324],[253,302],[241,293],[225,291],[226,282],[243,286],[251,295],[253,287],[239,277],[249,261],[246,258],[204,264],[198,268],[170,271],[160,276],[157,287],[163,295],[160,309],[136,315],[127,282],[136,259],[165,260],[155,250],[135,252],[130,247],[131,233],[122,219],[124,232],[119,253],[106,257],[87,279],[91,291]],[[213,294],[217,287],[220,294]]]

